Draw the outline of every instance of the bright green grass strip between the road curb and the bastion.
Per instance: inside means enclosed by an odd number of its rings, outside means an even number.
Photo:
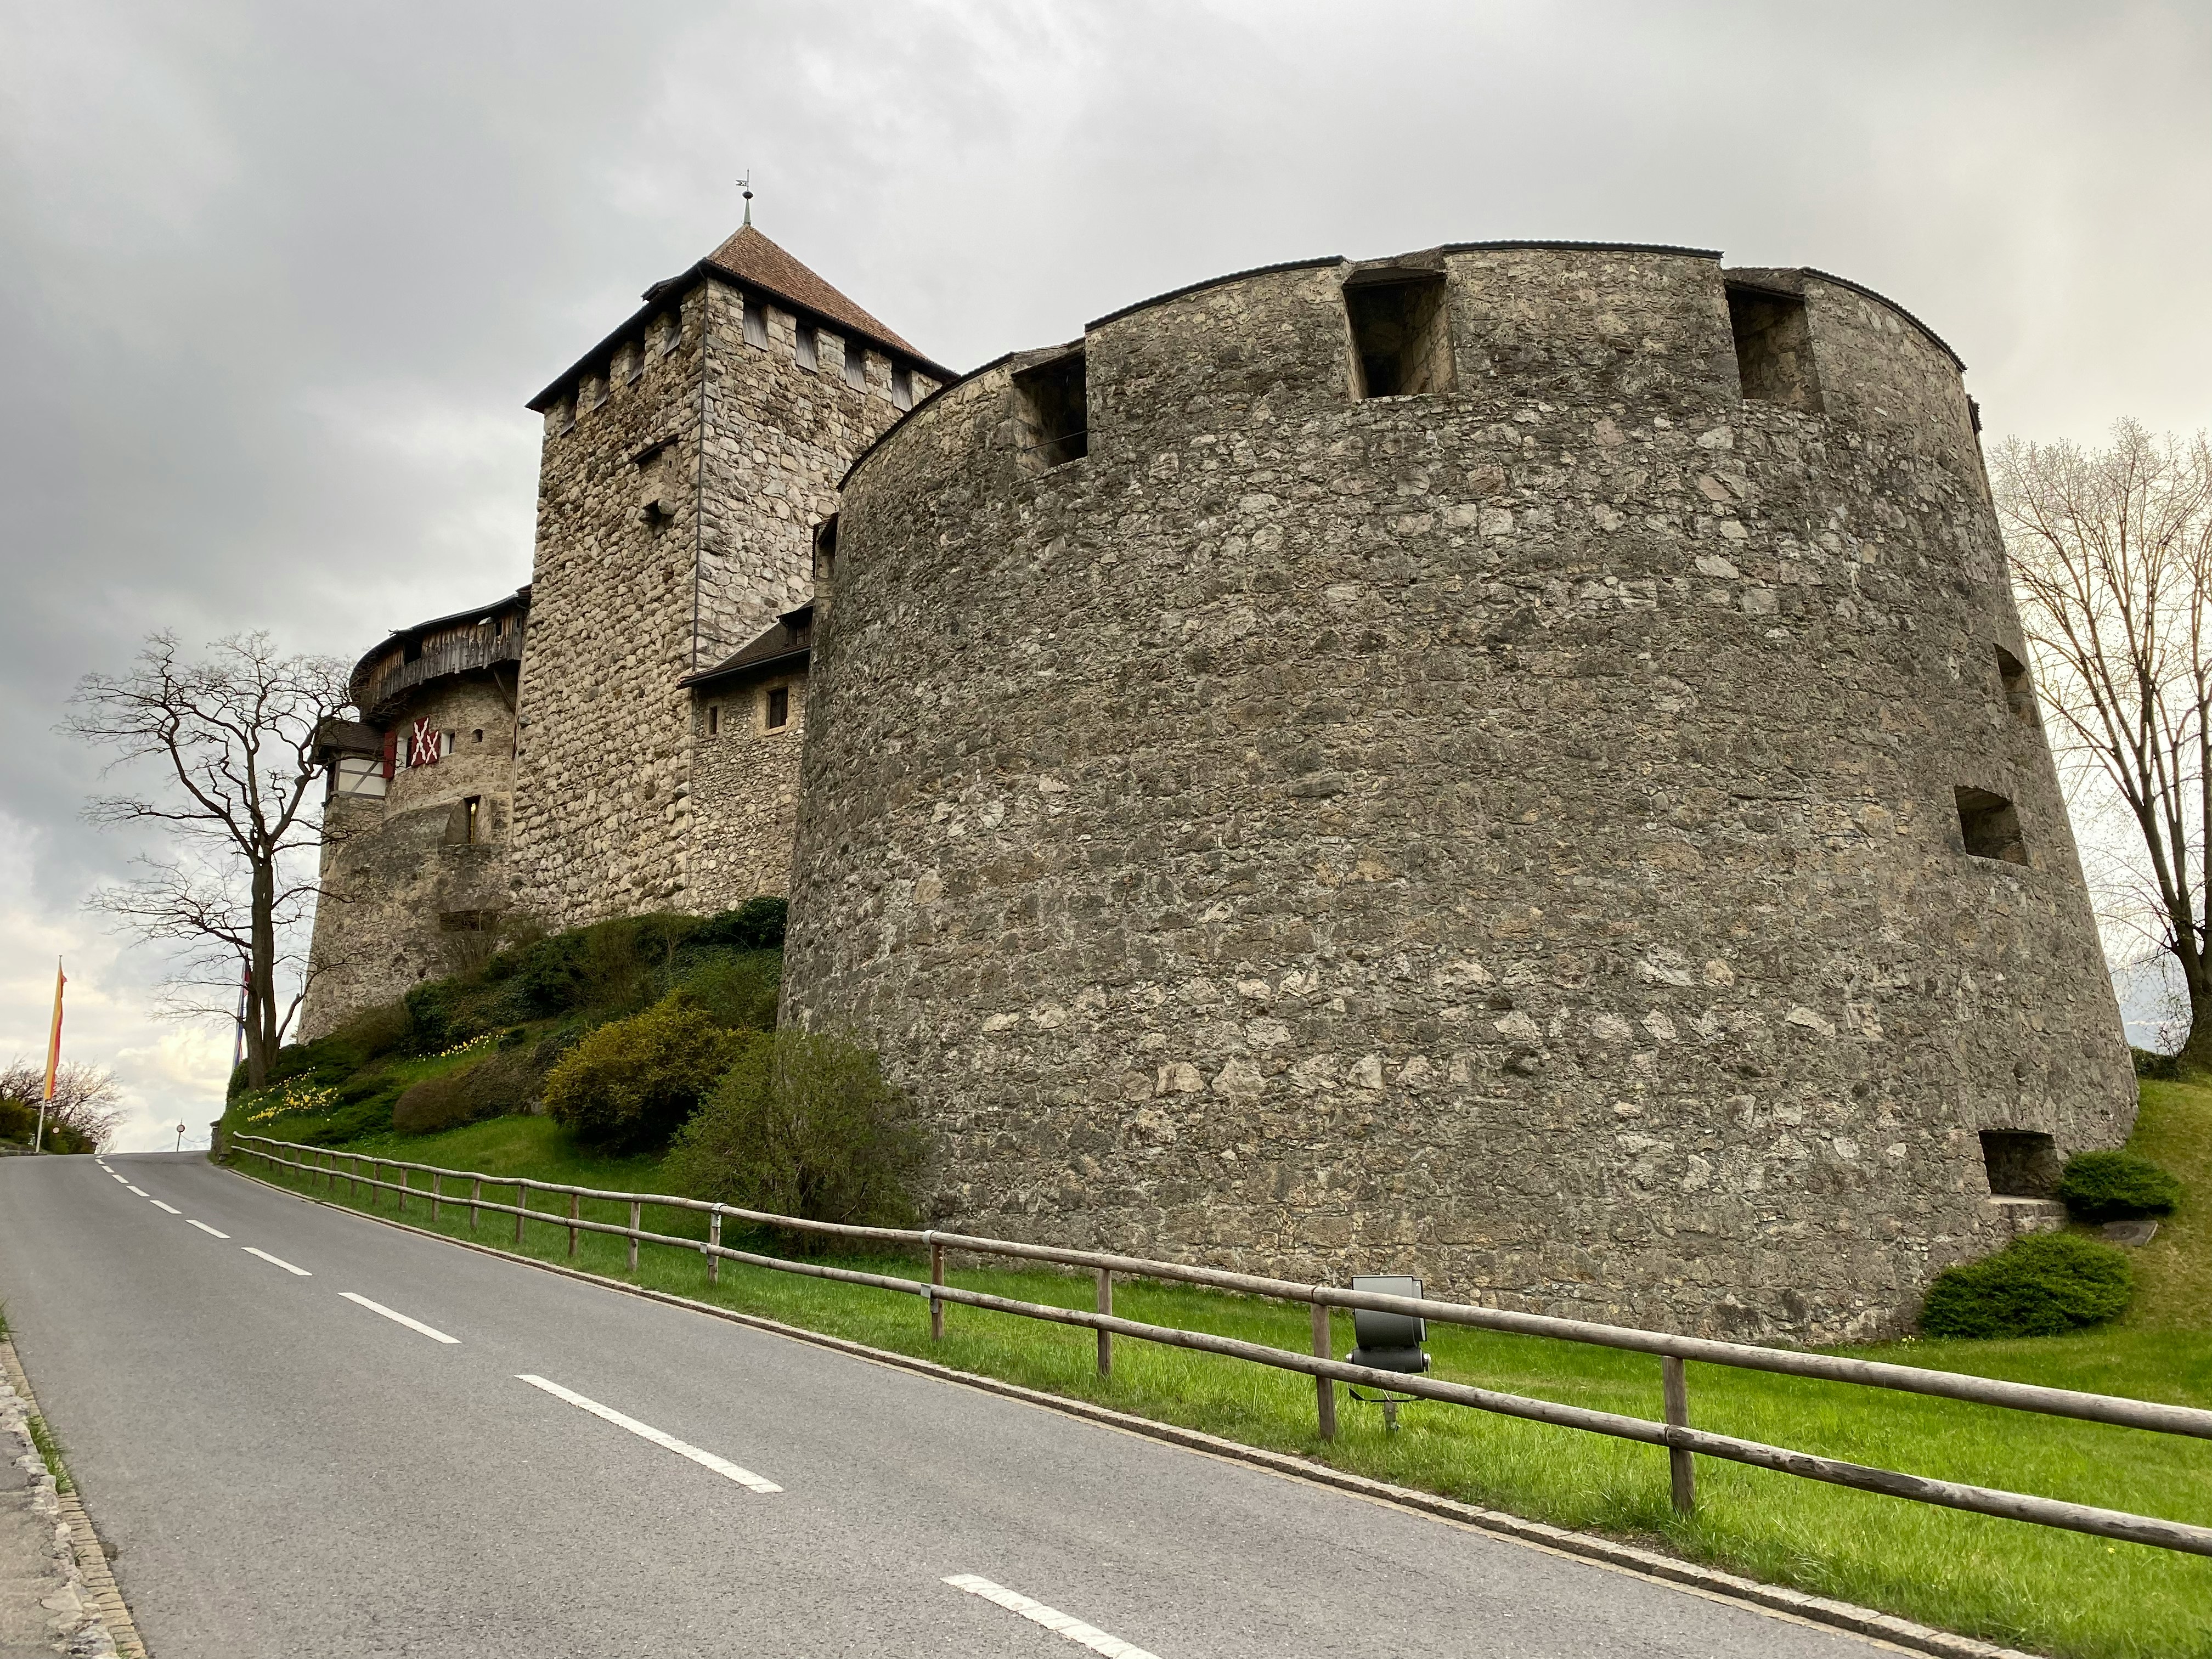
[[[2212,1407],[2212,1318],[2203,1208],[2212,1194],[2212,1088],[2146,1084],[2135,1148],[2172,1168],[2190,1190],[2183,1210],[2137,1254],[2141,1294],[2110,1327],[2013,1343],[1889,1343],[1851,1349],[1936,1369],[2130,1394]],[[347,1150],[416,1164],[531,1175],[575,1186],[655,1190],[655,1159],[604,1159],[575,1148],[551,1121],[504,1117],[445,1135],[378,1135]],[[241,1159],[252,1168],[252,1159]],[[285,1175],[285,1172],[279,1172]],[[418,1186],[427,1177],[416,1177]],[[307,1186],[299,1177],[290,1183]],[[321,1183],[312,1183],[321,1192]],[[511,1192],[500,1197],[511,1201]],[[345,1201],[345,1183],[336,1188]],[[389,1214],[396,1194],[378,1208]],[[363,1201],[365,1203],[365,1201]],[[540,1194],[538,1206],[566,1201]],[[588,1217],[626,1221],[617,1203]],[[429,1225],[411,1199],[407,1219]],[[467,1210],[440,1230],[467,1234]],[[703,1237],[703,1219],[648,1210],[646,1225]],[[566,1230],[526,1228],[522,1250],[566,1259]],[[513,1245],[509,1217],[484,1217],[480,1239]],[[730,1230],[732,1248],[776,1252]],[[841,1265],[927,1276],[918,1259],[841,1256]],[[626,1274],[626,1241],[584,1234],[577,1265]],[[807,1329],[1164,1422],[1314,1458],[1363,1475],[1420,1486],[1562,1526],[1635,1537],[1750,1577],[1900,1613],[2022,1648],[2081,1659],[2212,1659],[2212,1559],[2110,1544],[2020,1522],[1962,1515],[1809,1480],[1699,1460],[1699,1509],[1668,1506],[1666,1453],[1573,1429],[1413,1405],[1389,1436],[1374,1407],[1340,1405],[1336,1442],[1314,1433],[1310,1378],[1119,1338],[1110,1378],[1097,1376],[1091,1332],[969,1307],[947,1310],[929,1340],[916,1296],[723,1263],[708,1287],[690,1252],[648,1245],[639,1283],[714,1301]],[[960,1267],[958,1285],[1037,1303],[1091,1305],[1091,1281],[1053,1270]],[[1115,1312],[1305,1352],[1307,1310],[1186,1285],[1119,1283]],[[1336,1352],[1352,1347],[1338,1314]],[[1604,1411],[1659,1416],[1659,1360],[1548,1338],[1431,1325],[1433,1376]],[[1690,1418],[1703,1429],[1922,1475],[2068,1498],[2084,1504],[2212,1524],[2212,1442],[2037,1418],[1953,1400],[1801,1378],[1690,1367]]]

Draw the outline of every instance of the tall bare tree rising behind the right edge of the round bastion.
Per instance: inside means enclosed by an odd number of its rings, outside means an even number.
[[[2212,447],[2121,420],[2108,449],[2015,438],[1991,460],[2068,794],[2132,825],[2104,920],[2172,958],[2181,1060],[2212,1071]]]

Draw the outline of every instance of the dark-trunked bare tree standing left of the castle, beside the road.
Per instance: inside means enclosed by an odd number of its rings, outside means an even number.
[[[102,796],[93,823],[153,823],[175,841],[142,876],[93,896],[139,938],[177,945],[175,1013],[232,1013],[246,982],[246,1077],[259,1088],[307,993],[299,927],[314,902],[323,776],[316,734],[352,706],[334,657],[279,657],[263,633],[186,661],[173,633],[124,675],[86,675],[62,730],[153,761],[157,792]],[[111,768],[113,770],[113,768]],[[279,1011],[279,975],[294,991]]]

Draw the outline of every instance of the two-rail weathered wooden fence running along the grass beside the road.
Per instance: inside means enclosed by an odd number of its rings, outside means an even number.
[[[522,1243],[522,1228],[538,1221],[568,1230],[568,1254],[575,1256],[577,1234],[608,1232],[630,1243],[630,1267],[637,1267],[641,1243],[670,1245],[706,1256],[708,1283],[721,1279],[723,1261],[743,1261],[752,1267],[805,1274],[812,1279],[834,1279],[847,1285],[874,1285],[896,1290],[929,1301],[929,1334],[945,1336],[945,1305],[987,1307],[998,1314],[1020,1314],[1055,1325],[1082,1325],[1097,1332],[1097,1367],[1113,1369],[1113,1338],[1130,1336],[1166,1347],[1188,1347],[1201,1354],[1225,1354],[1230,1358],[1270,1365],[1281,1371],[1303,1371],[1314,1378],[1314,1407],[1321,1422],[1321,1438],[1336,1436],[1336,1383],[1387,1389],[1416,1400],[1442,1400],[1449,1405],[1495,1411],[1528,1422],[1551,1422],[1562,1429],[1586,1429],[1617,1440],[1637,1440],[1668,1451],[1668,1475],[1674,1509],[1688,1513],[1694,1502],[1694,1458],[1725,1458],[1752,1464],[1754,1469],[1776,1469],[1803,1480],[1823,1480],[1834,1486],[1856,1486],[1858,1491],[1882,1493],[1885,1498],[1907,1498],[1920,1504],[1964,1509],[1978,1515],[2002,1515],[2006,1520],[2033,1522],[2037,1526],[2062,1526],[2097,1537],[2119,1537],[2130,1544],[2152,1544],[2157,1548],[2185,1551],[2190,1555],[2212,1555],[2212,1526],[2159,1520],[2154,1515],[2130,1515],[2119,1509],[2097,1509],[2057,1498],[2035,1498],[2028,1493],[2000,1491],[1995,1486],[1969,1486],[1953,1480],[1931,1480],[1896,1469],[1869,1469],[1867,1464],[1838,1462],[1809,1451],[1790,1451],[1759,1440],[1739,1440],[1725,1433],[1708,1433],[1690,1427],[1690,1389],[1686,1363],[1732,1365],[1747,1371],[1776,1371],[1781,1376],[1807,1376],[1823,1383],[1851,1383],[1871,1389],[1900,1389],[1905,1394],[1931,1394],[1947,1400],[1969,1400],[1973,1405],[2006,1407],[2013,1411],[2035,1411],[2053,1418],[2079,1418],[2084,1422],[2108,1422],[2126,1429],[2148,1429],[2152,1433],[2192,1436],[2212,1440],[2212,1411],[2181,1405],[2159,1405],[2154,1400],[2128,1400],[2110,1394],[2077,1394],[2075,1389],[2048,1389],[2035,1383],[2006,1383],[1986,1376],[1962,1376],[1958,1371],[1927,1371],[1911,1365],[1882,1365],[1878,1360],[1854,1360],[1834,1354],[1798,1354],[1781,1347],[1754,1347],[1750,1343],[1721,1343],[1703,1336],[1672,1336],[1668,1332],[1644,1332],[1626,1325],[1599,1325],[1582,1318],[1553,1318],[1548,1314],[1513,1314],[1500,1307],[1473,1307],[1469,1303],[1427,1301],[1416,1296],[1376,1296],[1338,1285],[1298,1285],[1287,1279],[1263,1279],[1259,1274],[1225,1272],[1219,1267],[1186,1267],[1172,1261],[1144,1261],[1141,1256],[1115,1256],[1097,1250],[1062,1250],[1060,1245],[1015,1243],[1009,1239],[971,1239],[958,1232],[936,1232],[916,1228],[856,1228],[834,1221],[803,1221],[799,1217],[741,1210],[728,1203],[703,1199],[679,1199],[666,1192],[604,1192],[588,1186],[564,1186],[557,1181],[531,1181],[513,1175],[480,1175],[476,1170],[447,1170],[436,1164],[407,1164],[403,1159],[374,1157],[363,1152],[338,1152],[299,1141],[274,1141],[265,1135],[230,1135],[230,1148],[263,1159],[270,1168],[299,1170],[310,1179],[321,1179],[336,1194],[338,1181],[347,1183],[347,1194],[369,1192],[376,1206],[378,1192],[396,1192],[398,1208],[407,1199],[427,1199],[431,1221],[440,1206],[467,1206],[469,1230],[478,1225],[482,1212],[511,1214],[515,1219],[515,1243]],[[299,1157],[283,1157],[296,1152]],[[310,1161],[312,1159],[312,1161]],[[345,1168],[341,1168],[341,1159]],[[367,1172],[363,1172],[367,1170]],[[380,1179],[383,1170],[400,1172],[398,1181]],[[416,1188],[409,1175],[427,1175],[429,1188]],[[447,1181],[467,1181],[467,1197],[447,1190]],[[513,1188],[513,1203],[498,1203],[484,1197],[484,1188]],[[568,1212],[529,1208],[531,1192],[566,1194]],[[613,1221],[591,1221],[582,1214],[584,1199],[628,1203],[628,1225]],[[706,1212],[708,1237],[681,1239],[644,1228],[644,1208]],[[867,1239],[872,1243],[898,1245],[929,1252],[929,1279],[900,1279],[894,1274],[872,1274],[854,1267],[834,1267],[818,1261],[790,1261],[750,1250],[730,1250],[721,1243],[723,1219],[750,1225],[781,1228],[787,1232],[812,1232],[838,1239]],[[945,1252],[958,1250],[973,1256],[1009,1256],[1018,1261],[1044,1261],[1060,1267],[1086,1267],[1097,1281],[1097,1312],[1079,1307],[1055,1307],[1051,1303],[1026,1303],[1011,1296],[989,1296],[980,1290],[962,1290],[945,1283]],[[1113,1312],[1113,1281],[1164,1279],[1181,1285],[1208,1285],[1248,1296],[1270,1296],[1276,1301],[1307,1303],[1314,1310],[1314,1352],[1296,1354],[1263,1343],[1245,1343],[1210,1332],[1188,1332],[1172,1325],[1146,1325],[1133,1318],[1117,1318]],[[1376,1310],[1385,1314],[1409,1314],[1431,1318],[1438,1325],[1471,1325],[1475,1329],[1515,1332],[1522,1336],[1551,1336],[1566,1343],[1588,1343],[1595,1347],[1619,1347],[1659,1358],[1663,1413],[1661,1422],[1630,1418],[1617,1411],[1593,1411],[1588,1407],[1531,1400],[1517,1394],[1498,1394],[1467,1383],[1442,1383],[1429,1376],[1405,1376],[1400,1371],[1378,1371],[1367,1365],[1352,1365],[1334,1356],[1329,1343],[1329,1310]]]

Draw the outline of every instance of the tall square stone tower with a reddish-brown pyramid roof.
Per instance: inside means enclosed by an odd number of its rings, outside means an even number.
[[[810,599],[845,469],[949,378],[748,221],[531,400],[518,909],[577,927],[708,907],[686,681]]]

